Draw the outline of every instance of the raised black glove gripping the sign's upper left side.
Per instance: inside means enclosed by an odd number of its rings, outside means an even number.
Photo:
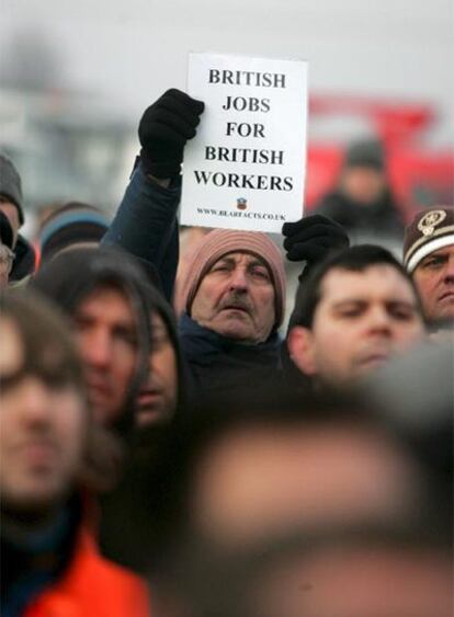
[[[180,173],[183,149],[195,135],[204,103],[181,90],[168,90],[141,116],[138,135],[146,173],[172,178]]]

